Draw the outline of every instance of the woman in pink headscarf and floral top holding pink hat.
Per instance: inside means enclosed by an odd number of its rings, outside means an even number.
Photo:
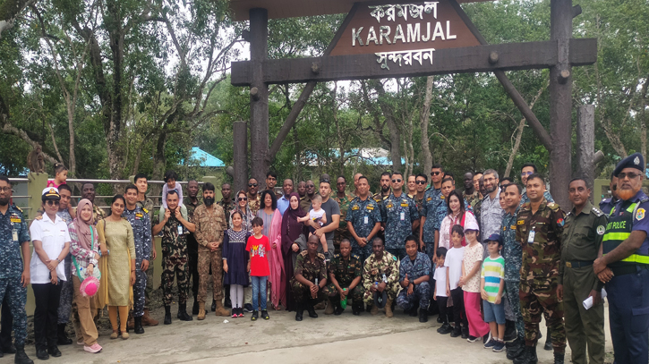
[[[81,199],[77,206],[77,217],[68,225],[70,232],[71,253],[73,255],[73,284],[74,301],[77,304],[77,316],[73,319],[77,343],[83,343],[83,350],[89,352],[101,351],[97,343],[97,326],[94,317],[97,315],[95,298],[81,293],[83,279],[96,275],[99,260],[99,240],[96,228],[93,226],[92,202]]]

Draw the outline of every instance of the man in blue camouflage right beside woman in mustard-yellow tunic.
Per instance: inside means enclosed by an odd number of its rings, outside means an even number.
[[[135,284],[133,284],[133,312],[135,334],[144,334],[142,316],[144,316],[145,291],[147,289],[147,270],[151,251],[151,220],[149,214],[138,204],[138,188],[129,184],[124,190],[126,208],[124,217],[133,229],[135,242]]]

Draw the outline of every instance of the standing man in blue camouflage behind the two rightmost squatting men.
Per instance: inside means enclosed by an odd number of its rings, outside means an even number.
[[[392,173],[392,193],[383,200],[380,215],[385,223],[385,247],[390,254],[401,259],[406,257],[404,241],[413,233],[413,223],[419,220],[419,211],[414,199],[404,192],[404,176]]]

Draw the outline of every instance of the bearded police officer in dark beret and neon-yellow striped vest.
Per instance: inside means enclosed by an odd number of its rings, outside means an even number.
[[[649,197],[642,190],[645,158],[632,154],[619,162],[619,201],[606,225],[600,258],[593,270],[609,293],[611,340],[618,363],[649,360]]]

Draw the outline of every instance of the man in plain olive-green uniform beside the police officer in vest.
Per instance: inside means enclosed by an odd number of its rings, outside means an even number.
[[[593,271],[593,261],[602,245],[608,219],[588,200],[591,190],[583,179],[568,186],[568,197],[575,206],[566,216],[561,239],[559,299],[566,313],[566,336],[575,364],[604,363],[604,284]],[[593,297],[593,307],[582,302]],[[588,356],[586,357],[586,343]],[[588,359],[586,359],[588,358]]]

